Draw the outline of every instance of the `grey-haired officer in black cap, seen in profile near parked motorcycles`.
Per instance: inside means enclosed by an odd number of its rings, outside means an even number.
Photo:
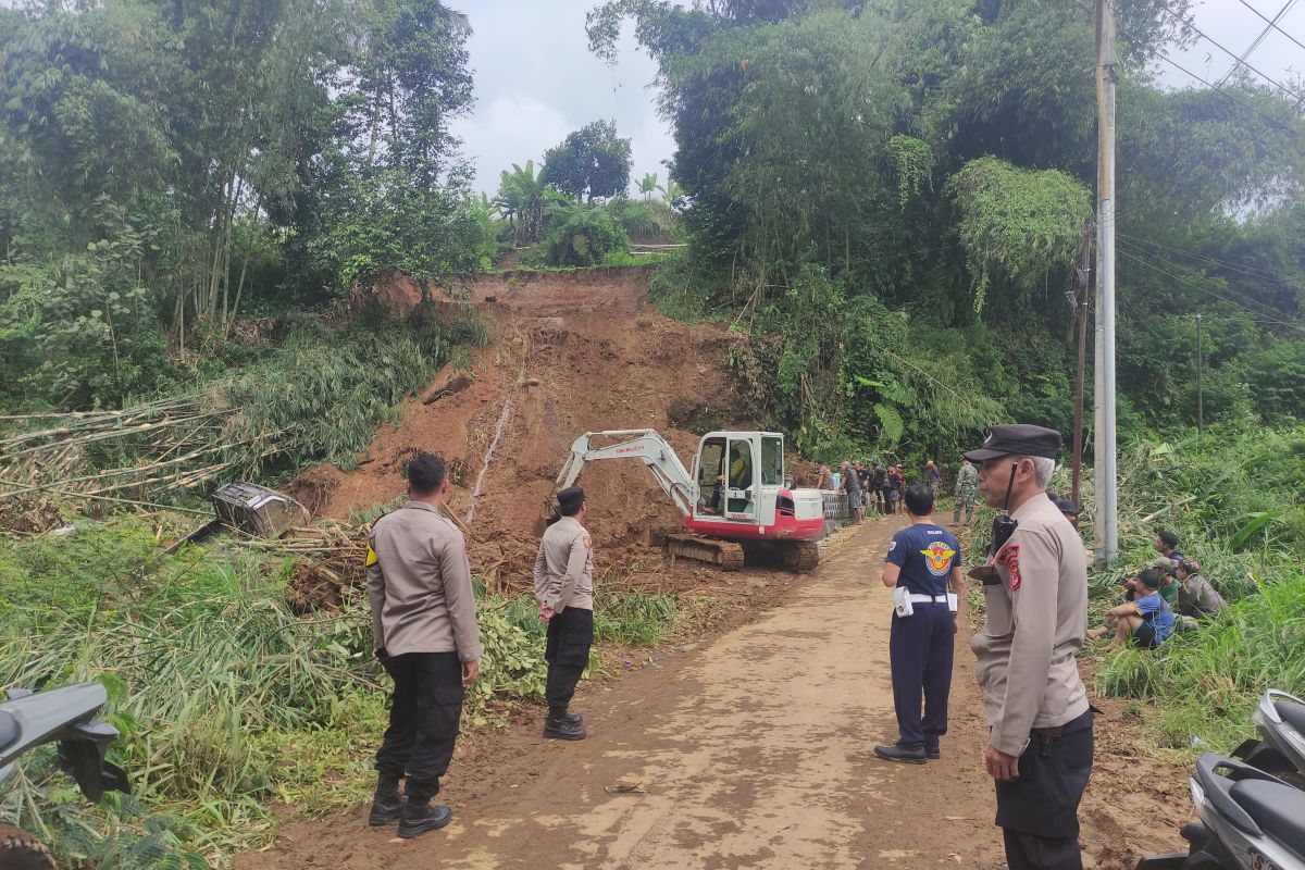
[[[979,464],[984,501],[1015,522],[989,554],[987,622],[970,643],[1010,870],[1083,866],[1078,805],[1092,768],[1092,713],[1074,653],[1087,629],[1087,563],[1074,527],[1047,497],[1060,445],[1052,429],[998,425],[966,454]]]

